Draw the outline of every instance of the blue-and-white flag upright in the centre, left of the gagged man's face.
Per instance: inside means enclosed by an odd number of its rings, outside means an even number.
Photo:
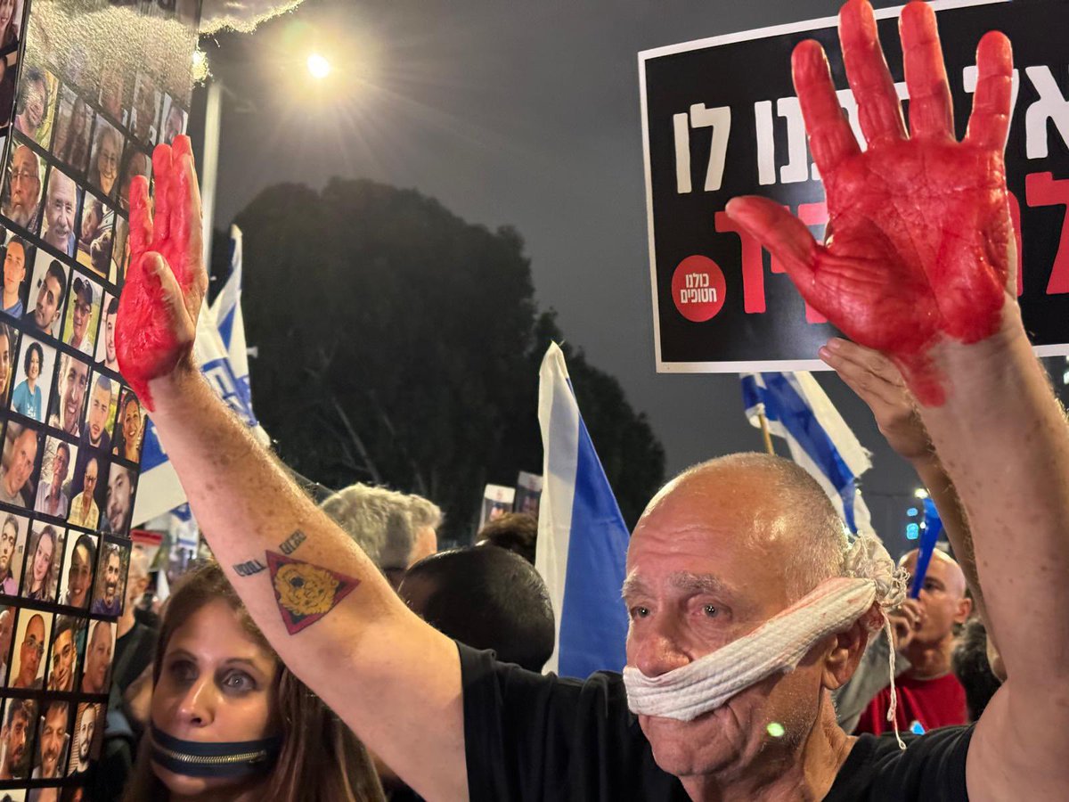
[[[545,670],[580,678],[619,672],[628,636],[620,589],[630,534],[556,344],[539,379],[544,482],[534,565],[549,588],[557,628]]]

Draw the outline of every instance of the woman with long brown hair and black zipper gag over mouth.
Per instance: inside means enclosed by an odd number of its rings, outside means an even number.
[[[171,595],[152,677],[124,802],[383,799],[356,736],[282,665],[218,566],[193,569]],[[257,757],[199,757],[242,753]]]

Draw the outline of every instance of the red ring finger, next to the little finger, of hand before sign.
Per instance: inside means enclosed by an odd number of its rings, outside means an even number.
[[[905,84],[910,90],[910,134],[919,139],[954,139],[954,102],[939,41],[935,12],[915,0],[899,20]]]

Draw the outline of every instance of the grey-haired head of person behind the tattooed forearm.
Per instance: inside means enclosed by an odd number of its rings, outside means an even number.
[[[437,551],[441,510],[420,496],[356,483],[320,508],[365,550],[394,590],[409,566]]]

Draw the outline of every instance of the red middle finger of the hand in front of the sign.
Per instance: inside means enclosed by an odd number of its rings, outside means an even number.
[[[883,58],[876,17],[867,0],[850,0],[842,6],[839,41],[865,139],[870,145],[905,139],[902,105]]]

